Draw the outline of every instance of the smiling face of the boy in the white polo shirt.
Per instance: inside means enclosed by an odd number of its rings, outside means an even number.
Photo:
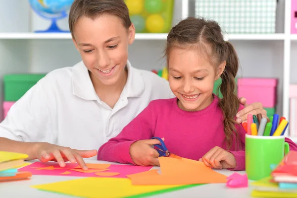
[[[91,77],[95,76],[104,85],[113,85],[123,79],[128,45],[135,37],[134,25],[127,30],[119,17],[110,14],[94,20],[82,16],[76,22],[73,34],[73,42],[91,71]]]

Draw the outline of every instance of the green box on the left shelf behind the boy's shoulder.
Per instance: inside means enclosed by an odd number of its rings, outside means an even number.
[[[46,74],[4,75],[4,101],[15,102]]]

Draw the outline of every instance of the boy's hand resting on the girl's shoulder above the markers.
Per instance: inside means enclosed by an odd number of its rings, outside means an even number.
[[[237,118],[236,122],[238,124],[247,121],[248,114],[251,114],[251,115],[262,114],[263,118],[267,118],[267,112],[265,109],[263,109],[262,103],[255,102],[250,105],[247,105],[246,98],[240,98],[239,101],[242,105],[245,106],[245,108],[236,114],[236,118]]]

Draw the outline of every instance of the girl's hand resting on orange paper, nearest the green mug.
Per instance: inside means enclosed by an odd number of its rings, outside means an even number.
[[[221,147],[213,147],[199,159],[206,166],[216,169],[235,168],[236,160],[232,153]]]

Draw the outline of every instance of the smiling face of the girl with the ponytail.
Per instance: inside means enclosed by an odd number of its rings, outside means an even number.
[[[196,50],[181,48],[173,48],[169,54],[169,85],[185,111],[199,111],[211,104],[214,81],[225,68],[222,64],[217,73],[204,57]]]

